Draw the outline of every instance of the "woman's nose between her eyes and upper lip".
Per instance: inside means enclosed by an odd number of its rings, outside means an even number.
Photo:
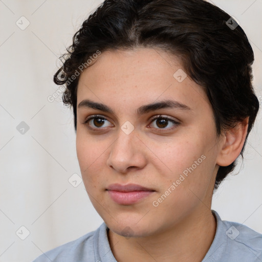
[[[119,130],[116,141],[110,147],[107,165],[118,172],[141,169],[146,164],[145,146],[135,130],[129,135]]]

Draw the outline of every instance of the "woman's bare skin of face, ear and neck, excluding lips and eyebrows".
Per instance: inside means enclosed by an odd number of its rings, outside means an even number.
[[[76,149],[86,191],[110,228],[108,241],[118,262],[202,261],[216,229],[210,209],[217,170],[231,164],[245,142],[248,119],[217,137],[206,94],[188,76],[182,82],[174,78],[178,69],[183,69],[178,58],[161,50],[106,51],[79,79],[77,105],[90,99],[114,111],[77,108]],[[191,110],[162,108],[136,115],[141,105],[164,99]],[[100,125],[89,122],[99,132],[84,124],[95,114],[106,118]],[[160,114],[179,124],[150,121]],[[121,129],[126,121],[135,127],[129,135]],[[205,160],[162,203],[152,205],[202,155]],[[106,190],[113,183],[135,183],[155,192],[120,205]]]

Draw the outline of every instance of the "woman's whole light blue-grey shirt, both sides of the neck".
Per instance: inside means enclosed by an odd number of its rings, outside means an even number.
[[[251,228],[222,221],[214,210],[216,232],[202,262],[262,262],[262,234]],[[75,241],[43,253],[33,262],[117,262],[107,238],[108,227],[103,223]]]

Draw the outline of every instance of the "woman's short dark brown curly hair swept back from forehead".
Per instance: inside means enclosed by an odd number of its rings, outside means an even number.
[[[105,0],[89,15],[54,75],[56,84],[65,85],[62,100],[73,106],[75,130],[77,69],[98,50],[136,47],[176,55],[186,74],[205,90],[217,136],[249,117],[248,137],[259,108],[252,86],[253,50],[241,26],[204,0]],[[215,189],[234,167],[235,161],[219,167]]]

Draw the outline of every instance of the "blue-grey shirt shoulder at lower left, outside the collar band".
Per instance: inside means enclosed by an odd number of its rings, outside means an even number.
[[[33,262],[95,261],[94,238],[106,225],[103,223],[97,230],[89,232],[78,239],[43,253]]]

